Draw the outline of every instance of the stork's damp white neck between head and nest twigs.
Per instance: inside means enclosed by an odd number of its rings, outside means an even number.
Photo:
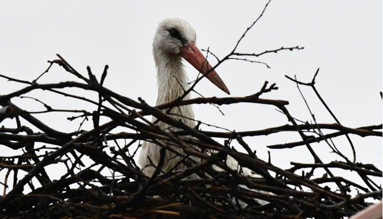
[[[189,89],[189,79],[184,70],[181,57],[157,51],[154,51],[153,55],[157,67],[158,83],[158,96],[156,105],[160,105],[175,100],[184,94],[184,91]],[[188,94],[184,99],[190,99],[190,94]],[[164,110],[164,112],[166,111],[167,110]],[[194,119],[194,113],[191,105],[173,107],[170,113]],[[193,120],[176,115],[170,116],[177,120],[181,119],[190,127],[195,126]],[[159,125],[166,126],[163,123],[160,123]]]

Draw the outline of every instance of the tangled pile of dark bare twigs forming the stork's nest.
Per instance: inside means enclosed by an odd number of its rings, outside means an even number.
[[[0,96],[0,103],[3,106],[0,111],[2,120],[14,118],[17,123],[17,128],[4,126],[0,128],[0,144],[2,147],[14,150],[23,149],[20,155],[0,158],[0,169],[6,170],[6,176],[1,182],[5,186],[4,194],[0,198],[2,217],[8,215],[8,218],[36,216],[55,218],[60,215],[86,218],[132,218],[155,215],[187,218],[195,217],[198,213],[200,217],[218,218],[240,216],[339,218],[365,208],[368,205],[366,198],[381,199],[381,188],[371,179],[371,176],[381,177],[381,170],[371,164],[349,160],[331,143],[331,138],[348,134],[363,137],[381,136],[381,131],[377,131],[382,128],[381,124],[350,128],[339,123],[300,123],[287,110],[287,101],[261,98],[262,94],[277,89],[274,84],[268,86],[267,82],[258,93],[246,97],[177,99],[168,104],[152,107],[143,100],[136,102],[103,87],[107,66],[101,81],[98,82],[90,68],[88,68],[89,78],[86,78],[62,57],[50,63],[51,66],[53,64],[62,66],[85,83],[67,81],[57,84],[39,84],[37,80],[29,82],[2,76],[11,81],[27,84],[21,90]],[[316,90],[315,77],[310,83],[291,80]],[[60,90],[68,87],[96,92],[99,98],[91,100]],[[87,112],[54,109],[41,102],[46,108],[44,113],[57,111],[80,113],[79,116],[69,119],[92,117],[93,129],[71,133],[60,132],[35,118],[32,112],[21,109],[11,102],[12,98],[36,89],[96,105],[97,110]],[[200,130],[198,125],[190,128],[164,113],[170,107],[185,104],[224,105],[244,102],[275,106],[284,113],[290,123],[263,130],[211,132]],[[144,116],[147,115],[155,116],[160,121],[178,128],[179,131],[162,130],[145,119]],[[107,117],[109,121],[100,124],[100,116]],[[24,124],[24,120],[20,118],[28,121],[33,127]],[[114,132],[118,128],[125,131]],[[41,131],[35,131],[37,129]],[[322,129],[333,130],[333,132],[323,135]],[[311,130],[309,133],[316,134],[316,137],[307,136],[305,131],[309,130]],[[252,146],[242,139],[245,136],[287,131],[298,132],[302,141],[270,147],[290,148],[305,145],[314,163],[292,162],[292,168],[281,169],[270,162],[258,159],[251,150]],[[119,139],[124,139],[127,143],[121,145],[118,143]],[[222,139],[225,139],[224,144],[220,143]],[[182,156],[184,156],[184,164],[188,166],[186,169],[167,173],[156,171],[152,177],[148,177],[135,164],[134,154],[128,152],[131,145],[142,140],[167,142],[180,147],[190,144],[201,150],[209,149],[213,153],[207,155],[184,148]],[[310,143],[319,141],[326,141],[333,152],[341,156],[344,161],[323,163],[310,146]],[[237,147],[242,146],[247,153],[238,152],[230,146],[233,144]],[[165,153],[166,149],[167,145],[163,145],[161,153]],[[237,160],[240,166],[262,175],[262,178],[245,176],[240,170],[235,171],[227,167],[224,160],[228,155]],[[202,161],[195,163],[194,160],[189,159],[189,156],[199,157]],[[89,157],[92,163],[82,162],[84,157]],[[60,180],[52,180],[50,177],[52,173],[49,173],[46,167],[60,163],[67,167],[67,171],[61,173]],[[221,167],[222,171],[211,168],[212,165]],[[101,171],[106,168],[110,170],[110,176],[101,174]],[[157,168],[161,169],[161,162]],[[299,170],[302,168],[311,168],[311,170],[301,174]],[[323,168],[327,174],[314,177],[315,168]],[[365,185],[334,175],[331,172],[332,168],[355,171]],[[28,174],[19,178],[22,171]],[[7,183],[11,173],[13,173],[13,185]],[[188,178],[191,174],[197,174],[199,178]],[[36,178],[41,186],[32,183],[33,178]],[[332,188],[326,186],[329,182],[334,183],[335,186]],[[23,191],[27,184],[31,191],[25,193]],[[8,193],[7,188],[11,188]],[[351,188],[358,189],[360,193],[351,197]],[[265,200],[267,203],[260,200]]]

